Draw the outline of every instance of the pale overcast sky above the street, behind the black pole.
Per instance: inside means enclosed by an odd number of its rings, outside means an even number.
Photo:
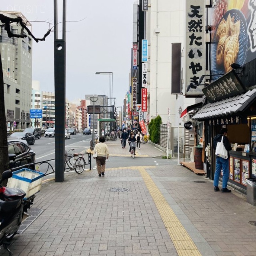
[[[6,0],[0,10],[20,11],[32,23],[33,34],[41,38],[53,24],[53,0]],[[59,3],[62,1],[58,0]],[[122,106],[128,90],[131,65],[132,8],[134,0],[66,0],[66,98],[85,94],[109,96],[109,76],[113,72],[113,97]],[[82,20],[84,19],[84,20]],[[80,22],[69,22],[78,21]],[[37,21],[37,22],[32,22]],[[54,34],[44,42],[33,42],[32,80],[40,89],[54,92]]]

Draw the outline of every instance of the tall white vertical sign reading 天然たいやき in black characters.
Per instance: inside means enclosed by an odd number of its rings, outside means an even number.
[[[186,96],[202,96],[204,85],[204,0],[186,0]]]

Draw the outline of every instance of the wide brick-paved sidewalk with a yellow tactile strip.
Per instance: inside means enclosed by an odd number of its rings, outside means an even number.
[[[110,157],[126,156],[119,143],[107,142]],[[162,153],[150,144],[138,152],[156,155]],[[14,237],[14,255],[256,255],[256,226],[249,223],[256,222],[256,207],[234,190],[214,192],[212,182],[180,165],[105,174],[70,173],[65,182],[43,184],[33,207],[44,212]]]

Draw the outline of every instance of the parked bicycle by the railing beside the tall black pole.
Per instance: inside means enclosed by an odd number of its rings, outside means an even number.
[[[68,153],[69,151],[74,151],[74,149],[70,149],[65,151],[65,170],[75,170],[76,173],[80,174],[84,171],[86,162],[84,160],[84,155],[79,153]]]

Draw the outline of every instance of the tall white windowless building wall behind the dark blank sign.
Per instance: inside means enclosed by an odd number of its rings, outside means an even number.
[[[148,40],[148,119],[157,115],[163,124],[178,125],[178,108],[194,104],[194,98],[171,94],[172,43],[184,48],[185,0],[151,0],[146,12],[146,38]],[[183,70],[185,74],[186,70]],[[185,85],[183,85],[183,93]]]

